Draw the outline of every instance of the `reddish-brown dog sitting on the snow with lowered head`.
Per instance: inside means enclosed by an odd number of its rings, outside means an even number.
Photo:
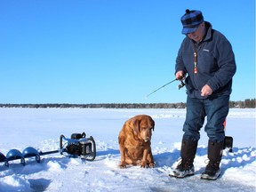
[[[121,154],[120,168],[126,164],[155,167],[151,151],[151,135],[155,122],[150,116],[134,116],[124,123],[118,142]]]

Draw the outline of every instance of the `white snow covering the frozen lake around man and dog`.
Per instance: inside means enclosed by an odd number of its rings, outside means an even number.
[[[124,121],[147,114],[156,122],[152,150],[156,168],[119,169],[117,136]],[[234,152],[224,150],[219,180],[200,180],[207,164],[204,128],[196,152],[195,176],[170,178],[178,164],[185,109],[106,108],[0,108],[0,152],[33,147],[43,152],[59,149],[60,135],[85,132],[96,141],[94,161],[68,158],[59,153],[0,163],[0,191],[255,191],[255,109],[232,108],[227,118]]]

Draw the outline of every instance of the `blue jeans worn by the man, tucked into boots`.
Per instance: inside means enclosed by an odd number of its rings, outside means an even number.
[[[224,121],[228,116],[229,95],[221,95],[206,100],[187,98],[187,114],[183,125],[183,140],[199,140],[200,130],[207,116],[204,131],[209,140],[220,142],[225,139]]]

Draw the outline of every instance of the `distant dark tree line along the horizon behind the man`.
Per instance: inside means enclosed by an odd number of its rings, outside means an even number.
[[[0,108],[186,108],[186,103],[0,104]],[[229,108],[255,108],[255,99],[229,101]]]

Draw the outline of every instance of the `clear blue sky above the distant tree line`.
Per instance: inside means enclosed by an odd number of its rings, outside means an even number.
[[[0,103],[186,102],[172,81],[180,16],[233,46],[231,100],[255,98],[255,1],[0,0]]]

